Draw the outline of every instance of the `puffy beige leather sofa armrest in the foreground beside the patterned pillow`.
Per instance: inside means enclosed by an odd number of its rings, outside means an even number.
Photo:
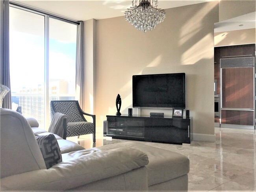
[[[63,161],[52,168],[1,178],[1,191],[69,190],[124,174],[146,164],[148,164],[147,155],[132,148],[117,148],[108,151],[97,151],[97,149],[74,151],[64,154]]]

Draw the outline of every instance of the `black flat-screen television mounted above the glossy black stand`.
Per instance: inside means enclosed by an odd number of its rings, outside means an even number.
[[[186,74],[132,76],[132,105],[137,108],[186,108]]]

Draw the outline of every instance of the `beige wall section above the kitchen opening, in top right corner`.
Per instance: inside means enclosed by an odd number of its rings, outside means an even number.
[[[245,15],[256,11],[255,0],[221,0],[219,1],[219,21]]]

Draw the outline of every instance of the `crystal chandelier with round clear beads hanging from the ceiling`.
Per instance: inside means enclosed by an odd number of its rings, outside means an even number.
[[[132,0],[132,7],[124,13],[125,20],[139,31],[152,31],[165,18],[165,10],[157,6],[158,0]]]

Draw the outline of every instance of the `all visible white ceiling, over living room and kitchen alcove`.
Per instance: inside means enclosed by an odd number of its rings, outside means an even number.
[[[159,0],[158,7],[168,9],[213,0]],[[132,0],[12,0],[71,20],[104,19],[124,16]],[[255,13],[215,24],[215,32],[255,28]],[[243,26],[239,27],[239,25]]]

